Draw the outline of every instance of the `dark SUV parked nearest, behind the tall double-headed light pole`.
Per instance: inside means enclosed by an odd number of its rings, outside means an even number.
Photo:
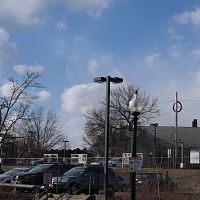
[[[74,167],[60,178],[53,178],[53,188],[70,194],[99,194],[104,185],[103,166]],[[112,168],[108,168],[108,193],[119,189],[119,180]]]

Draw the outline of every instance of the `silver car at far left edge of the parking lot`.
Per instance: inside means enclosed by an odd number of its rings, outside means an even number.
[[[18,172],[27,172],[30,168],[28,167],[16,167],[13,169],[10,169],[3,174],[0,174],[0,182],[1,183],[11,183],[13,177],[18,173]]]

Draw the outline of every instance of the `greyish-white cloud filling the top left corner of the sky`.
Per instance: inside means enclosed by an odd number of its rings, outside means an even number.
[[[44,23],[42,14],[52,0],[6,0],[1,1],[0,23],[36,25]]]

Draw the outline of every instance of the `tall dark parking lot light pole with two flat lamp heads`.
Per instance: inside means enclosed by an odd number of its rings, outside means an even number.
[[[96,83],[106,82],[106,118],[105,118],[105,150],[104,150],[104,195],[105,200],[108,196],[108,154],[109,154],[109,115],[110,115],[110,83],[122,83],[123,79],[119,77],[97,77]]]

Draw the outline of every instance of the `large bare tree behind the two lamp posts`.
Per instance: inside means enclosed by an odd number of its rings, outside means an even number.
[[[150,123],[160,113],[157,107],[158,99],[141,92],[138,88],[128,85],[113,89],[110,98],[110,138],[112,139],[111,143],[115,146],[125,139],[125,127],[129,127],[133,123],[133,116],[128,105],[136,90],[138,90],[139,98],[144,105],[139,119],[140,124]],[[85,115],[83,142],[91,151],[100,154],[104,149],[102,145],[104,145],[105,134],[105,106],[106,100],[104,99],[100,102],[99,108],[88,110]]]

